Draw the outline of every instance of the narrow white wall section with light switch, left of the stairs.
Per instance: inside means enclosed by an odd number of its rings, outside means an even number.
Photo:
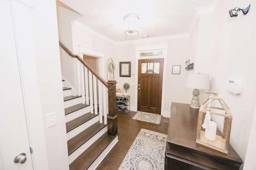
[[[56,2],[36,0],[33,4],[32,29],[48,169],[68,170]],[[46,114],[52,112],[56,112],[57,125],[47,128]]]

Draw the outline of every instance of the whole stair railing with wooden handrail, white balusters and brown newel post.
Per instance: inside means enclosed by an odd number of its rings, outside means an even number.
[[[104,115],[104,124],[108,124],[108,134],[112,136],[117,135],[116,80],[108,80],[108,82],[106,82],[79,55],[72,54],[71,51],[69,51],[68,48],[66,48],[60,41],[59,45],[64,51],[66,51],[66,53],[68,53],[68,55],[70,55],[70,57],[76,58],[79,61],[80,64],[78,64],[77,68],[78,94],[82,95],[83,104],[89,104],[90,96],[90,112],[93,113],[94,109],[95,114],[98,114],[98,97],[96,86],[98,81],[100,123],[102,123],[102,116]],[[102,87],[102,85],[105,87]],[[102,89],[104,89],[103,92]],[[106,113],[106,91],[108,92],[108,115]]]

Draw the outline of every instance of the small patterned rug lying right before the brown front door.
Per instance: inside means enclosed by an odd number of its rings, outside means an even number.
[[[149,123],[155,123],[160,125],[162,120],[162,115],[137,111],[136,115],[134,115],[132,119],[146,121]]]

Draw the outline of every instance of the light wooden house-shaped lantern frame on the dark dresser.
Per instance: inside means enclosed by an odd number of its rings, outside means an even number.
[[[228,154],[228,146],[229,146],[229,139],[230,139],[230,132],[231,132],[231,124],[232,124],[232,115],[228,106],[222,100],[222,98],[218,97],[218,91],[214,92],[214,96],[212,100],[218,100],[222,107],[216,106],[208,106],[210,99],[206,100],[199,109],[198,115],[198,124],[197,124],[197,133],[196,133],[196,143],[200,143],[201,145],[205,145],[206,147],[210,147],[212,149],[218,150],[225,154]],[[210,111],[210,108],[216,110],[216,112]],[[225,111],[225,113],[217,113],[217,111]],[[216,135],[215,141],[210,141],[205,137],[205,131],[202,130],[202,121],[204,115],[206,115],[206,111],[210,111],[210,114],[222,116],[224,117],[224,126],[222,131],[222,136]]]

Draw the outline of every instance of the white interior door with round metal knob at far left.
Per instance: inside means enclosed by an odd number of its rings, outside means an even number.
[[[15,2],[16,3],[16,2]],[[0,1],[0,169],[1,170],[32,170],[32,156],[26,123],[24,94],[22,93],[22,77],[20,72],[18,48],[14,35],[14,24],[9,0]],[[19,8],[16,6],[14,8]],[[14,163],[14,158],[26,154],[26,162]],[[24,156],[20,161],[24,161]]]

